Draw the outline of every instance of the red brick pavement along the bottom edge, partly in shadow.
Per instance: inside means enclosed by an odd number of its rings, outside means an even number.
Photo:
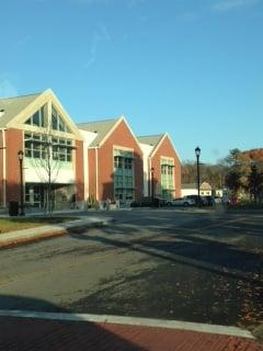
[[[176,329],[0,317],[1,351],[263,351],[251,339]]]

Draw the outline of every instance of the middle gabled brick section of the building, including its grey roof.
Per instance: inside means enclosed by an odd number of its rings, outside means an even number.
[[[142,152],[125,117],[82,123],[85,197],[129,202],[142,192]]]

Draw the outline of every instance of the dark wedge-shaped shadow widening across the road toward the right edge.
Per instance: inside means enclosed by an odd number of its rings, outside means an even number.
[[[244,280],[250,283],[262,283],[260,279],[263,258],[261,254],[239,251],[231,245],[210,241],[203,238],[175,235],[174,241],[151,239],[135,239],[125,241],[105,236],[89,236],[81,233],[70,233],[79,240],[95,241],[108,247],[133,250],[160,258],[173,263],[181,263],[205,270],[221,276]],[[179,241],[178,239],[181,239]]]

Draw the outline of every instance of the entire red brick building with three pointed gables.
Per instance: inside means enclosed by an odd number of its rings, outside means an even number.
[[[141,196],[180,196],[181,163],[168,134],[136,137],[124,116],[76,125],[52,90],[0,99],[0,206],[68,208],[72,194],[129,203]],[[48,191],[50,184],[50,192]]]

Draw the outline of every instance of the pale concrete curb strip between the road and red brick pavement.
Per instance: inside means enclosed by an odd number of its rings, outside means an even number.
[[[175,330],[186,330],[196,332],[207,332],[215,335],[232,336],[238,338],[254,339],[249,330],[238,327],[226,327],[219,325],[207,325],[202,322],[190,322],[170,319],[153,319],[153,318],[139,318],[139,317],[124,317],[111,315],[90,315],[90,314],[67,314],[67,313],[46,313],[46,312],[31,312],[31,310],[8,310],[0,309],[0,316],[19,317],[19,318],[38,318],[47,320],[61,320],[61,321],[89,321],[89,322],[108,322],[128,326],[141,326],[152,328],[165,328]]]

